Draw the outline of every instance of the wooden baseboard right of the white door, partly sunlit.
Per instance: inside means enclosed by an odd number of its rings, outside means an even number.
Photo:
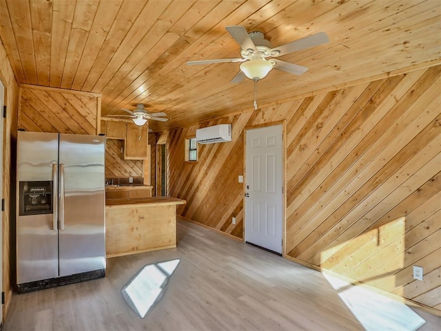
[[[332,271],[322,269],[322,268],[320,268],[318,266],[314,266],[313,264],[309,264],[308,262],[301,261],[300,259],[296,259],[295,257],[290,257],[289,255],[283,255],[283,257],[285,257],[286,259],[289,259],[290,261],[293,261],[293,262],[296,262],[298,264],[301,264],[302,266],[306,266],[308,268],[317,270],[320,273],[325,273],[327,275],[330,275],[332,277],[341,279],[342,281],[346,281],[347,283],[350,283],[350,284],[355,285],[355,286],[361,286],[362,288],[366,288],[367,290],[370,290],[372,292],[376,292],[379,295],[383,295],[384,297],[388,297],[389,299],[393,299],[395,301],[404,303],[407,306],[421,308],[422,310],[424,310],[426,312],[429,312],[430,314],[433,314],[435,316],[441,317],[441,311],[440,310],[436,310],[436,309],[433,309],[431,307],[424,306],[422,303],[418,303],[416,301],[412,301],[410,299],[406,299],[406,298],[400,297],[399,295],[394,295],[393,293],[390,293],[390,292],[387,292],[387,291],[384,291],[384,290],[380,290],[380,288],[375,288],[373,286],[370,286],[368,284],[362,283],[360,281],[356,281],[356,280],[351,279],[349,277],[345,277],[343,275],[338,275],[337,273],[333,273]]]

